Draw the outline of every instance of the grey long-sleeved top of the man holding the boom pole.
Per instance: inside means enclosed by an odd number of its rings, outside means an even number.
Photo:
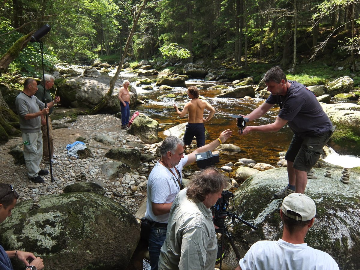
[[[45,108],[45,103],[37,99],[36,96],[28,96],[21,92],[15,99],[16,110],[19,116],[20,130],[23,133],[40,132],[40,116],[25,120],[24,116],[28,113],[39,112]]]

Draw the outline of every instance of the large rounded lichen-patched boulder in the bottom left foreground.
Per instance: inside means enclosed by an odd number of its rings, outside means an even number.
[[[120,204],[80,192],[41,196],[41,207],[29,211],[31,204],[18,203],[1,224],[6,250],[31,251],[46,269],[126,269],[140,225]],[[13,264],[14,269],[24,267],[20,260]]]

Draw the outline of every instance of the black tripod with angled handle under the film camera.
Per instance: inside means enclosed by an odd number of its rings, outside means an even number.
[[[239,216],[237,216],[233,213],[219,212],[219,211],[215,210],[214,223],[217,223],[216,220],[220,221],[220,226],[217,225],[219,227],[219,229],[215,229],[216,233],[221,233],[221,250],[220,250],[220,266],[219,266],[220,270],[221,270],[221,264],[222,264],[222,249],[224,248],[224,235],[228,238],[228,240],[231,244],[231,247],[233,247],[233,250],[236,255],[236,259],[239,261],[240,257],[241,257],[237,247],[235,246],[233,236],[229,232],[228,228],[226,228],[226,226],[225,226],[225,217],[227,217],[227,216],[231,216],[233,218],[233,223],[235,222],[235,219],[237,219],[237,220],[240,220],[241,222],[243,222],[245,225],[248,225],[250,228],[252,228],[254,230],[257,229],[257,227],[255,225],[251,224],[250,222],[248,222],[246,220],[243,220],[242,218],[240,218]]]

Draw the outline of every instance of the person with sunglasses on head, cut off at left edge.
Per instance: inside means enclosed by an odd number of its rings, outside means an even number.
[[[11,211],[15,207],[18,198],[19,195],[12,185],[0,184],[0,223],[11,216]],[[41,270],[44,268],[42,259],[36,257],[33,253],[21,250],[5,251],[3,246],[0,245],[0,270],[13,270],[10,258],[18,258],[24,262],[26,269]],[[31,261],[31,263],[28,261]]]

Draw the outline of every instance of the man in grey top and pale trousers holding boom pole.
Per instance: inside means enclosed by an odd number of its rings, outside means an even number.
[[[37,91],[37,83],[33,78],[27,78],[24,82],[24,90],[16,97],[15,105],[19,116],[20,130],[24,145],[24,159],[28,169],[28,177],[34,183],[44,183],[42,175],[49,171],[41,170],[39,165],[42,158],[42,132],[41,115],[49,113],[53,102],[41,102],[34,95]]]

